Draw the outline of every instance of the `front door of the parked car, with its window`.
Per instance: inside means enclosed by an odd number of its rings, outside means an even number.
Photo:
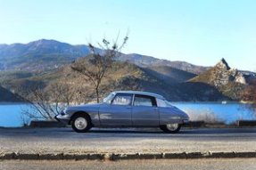
[[[111,104],[106,104],[99,110],[103,126],[131,126],[131,101],[133,94],[117,93]]]

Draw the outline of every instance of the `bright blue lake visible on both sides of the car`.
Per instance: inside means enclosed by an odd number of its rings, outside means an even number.
[[[172,104],[185,110],[195,120],[216,119],[230,124],[241,119],[256,119],[256,114],[248,109],[248,105],[238,102],[227,102],[227,104],[219,102],[172,102]],[[25,103],[0,103],[0,126],[22,126],[24,118],[22,118],[21,112],[24,109],[29,109],[29,105]]]

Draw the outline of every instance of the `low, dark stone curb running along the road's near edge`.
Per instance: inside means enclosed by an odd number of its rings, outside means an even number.
[[[23,153],[0,152],[0,160],[128,160],[188,158],[256,158],[256,151],[166,153]]]

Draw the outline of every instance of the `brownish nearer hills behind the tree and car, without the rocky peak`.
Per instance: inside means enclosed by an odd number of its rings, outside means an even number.
[[[14,73],[12,73],[14,74]],[[113,67],[103,79],[101,85],[101,98],[112,91],[137,90],[159,93],[169,101],[220,101],[227,99],[211,85],[202,83],[189,83],[186,80],[194,74],[178,69],[156,67],[140,68],[128,62],[115,61]],[[90,85],[83,77],[75,74],[70,65],[60,69],[33,74],[31,77],[9,79],[5,84],[12,92],[27,93],[28,89],[39,86],[49,91],[51,85],[64,84],[75,88],[76,96],[82,95],[79,101],[95,101],[93,85]]]

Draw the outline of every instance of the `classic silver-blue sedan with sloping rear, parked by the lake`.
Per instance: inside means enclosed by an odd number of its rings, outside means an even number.
[[[78,133],[91,127],[160,127],[178,133],[189,117],[156,93],[112,92],[102,103],[70,106],[55,117]]]

